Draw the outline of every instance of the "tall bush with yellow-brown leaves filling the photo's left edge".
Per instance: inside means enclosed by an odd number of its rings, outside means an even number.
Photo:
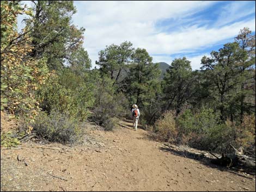
[[[19,1],[1,1],[1,110],[33,121],[39,111],[35,90],[48,78],[48,69],[44,59],[28,57],[32,39],[28,27],[17,32],[19,14],[32,11]]]

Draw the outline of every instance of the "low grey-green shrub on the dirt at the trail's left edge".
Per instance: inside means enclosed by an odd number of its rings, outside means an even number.
[[[51,114],[40,113],[32,127],[39,138],[59,143],[77,143],[83,134],[81,123],[67,114],[51,110]]]

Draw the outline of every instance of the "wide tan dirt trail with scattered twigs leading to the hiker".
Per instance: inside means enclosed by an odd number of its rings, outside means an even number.
[[[1,150],[1,191],[255,191],[255,176],[176,156],[120,123],[113,132],[92,129],[75,147]]]

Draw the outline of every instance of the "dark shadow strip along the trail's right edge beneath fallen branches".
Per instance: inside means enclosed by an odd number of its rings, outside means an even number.
[[[212,169],[218,169],[220,171],[228,171],[228,172],[231,172],[232,174],[239,175],[241,177],[245,177],[245,178],[249,178],[249,179],[252,179],[252,178],[242,175],[238,171],[240,169],[243,169],[243,172],[247,172],[248,174],[255,175],[255,170],[253,172],[252,170],[246,170],[245,168],[239,168],[239,167],[227,168],[225,166],[212,164],[211,163],[212,158],[205,157],[203,154],[197,154],[197,153],[188,152],[188,151],[178,151],[178,150],[175,150],[175,148],[170,148],[170,147],[159,147],[159,148],[162,151],[170,152],[176,156],[197,160],[198,162],[200,162]]]

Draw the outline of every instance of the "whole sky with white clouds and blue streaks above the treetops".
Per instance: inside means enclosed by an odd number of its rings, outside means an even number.
[[[74,1],[72,21],[84,27],[92,65],[107,45],[131,41],[154,62],[187,57],[193,70],[204,55],[232,42],[243,27],[255,33],[255,1]]]

